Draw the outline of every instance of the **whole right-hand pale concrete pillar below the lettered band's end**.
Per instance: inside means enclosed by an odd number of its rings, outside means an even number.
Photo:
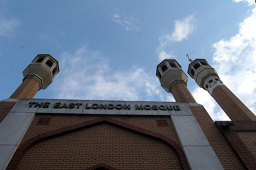
[[[193,115],[171,115],[191,170],[224,170]]]

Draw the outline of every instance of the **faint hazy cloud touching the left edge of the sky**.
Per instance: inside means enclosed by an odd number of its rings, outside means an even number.
[[[12,38],[15,35],[15,30],[20,25],[18,19],[0,19],[0,36]]]

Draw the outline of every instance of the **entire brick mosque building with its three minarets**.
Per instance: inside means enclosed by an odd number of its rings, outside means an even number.
[[[59,72],[38,54],[0,102],[0,170],[256,170],[256,116],[205,59],[190,61],[190,77],[231,121],[211,119],[174,59],[156,76],[176,102],[33,98]]]

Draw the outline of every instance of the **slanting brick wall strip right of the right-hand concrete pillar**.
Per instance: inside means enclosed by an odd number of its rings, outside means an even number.
[[[220,133],[220,130],[218,130],[204,107],[190,106],[190,109],[197,119],[206,138],[210,142],[211,147],[215,151],[223,168],[227,170],[244,170],[245,168],[242,162]]]

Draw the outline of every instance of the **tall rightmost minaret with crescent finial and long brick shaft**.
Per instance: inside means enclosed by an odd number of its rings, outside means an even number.
[[[204,88],[232,121],[256,121],[256,116],[223,84],[218,73],[205,59],[195,59],[188,74]]]

